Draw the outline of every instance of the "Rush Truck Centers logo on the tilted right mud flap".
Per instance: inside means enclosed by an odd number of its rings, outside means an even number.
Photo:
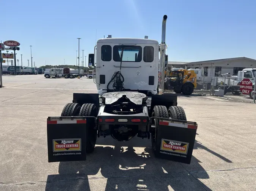
[[[188,143],[162,139],[161,150],[187,154]]]

